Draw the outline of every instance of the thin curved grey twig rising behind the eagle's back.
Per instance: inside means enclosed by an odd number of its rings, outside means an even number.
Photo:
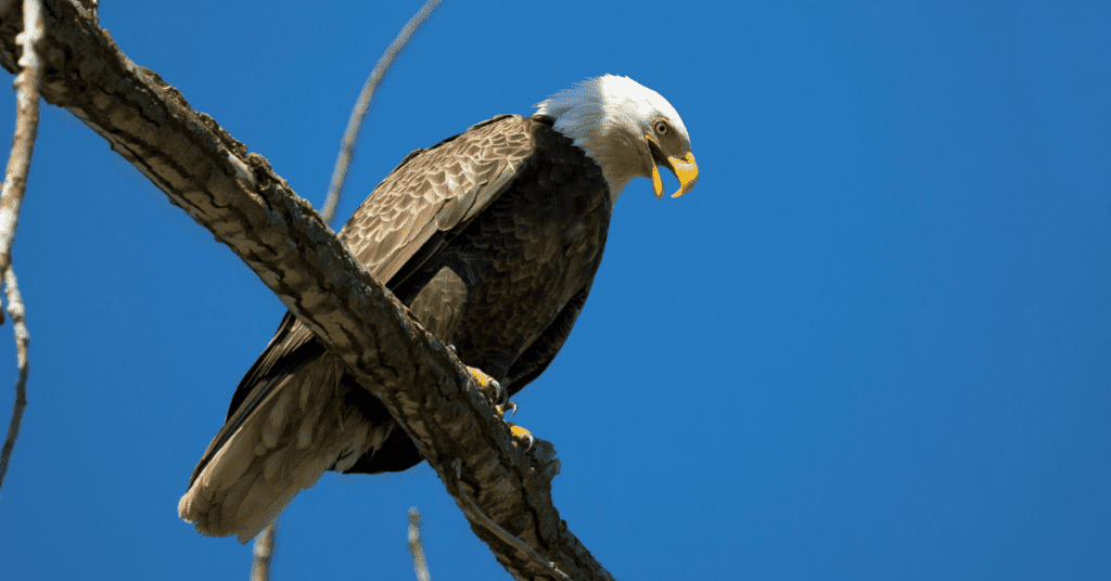
[[[328,184],[328,197],[324,199],[324,207],[320,211],[320,216],[324,219],[326,223],[331,224],[332,220],[336,219],[336,210],[340,206],[343,187],[347,186],[348,168],[351,164],[352,156],[354,156],[354,144],[359,140],[362,121],[367,117],[367,111],[370,110],[370,100],[374,97],[378,84],[382,82],[382,78],[386,77],[386,71],[393,64],[393,60],[406,48],[409,38],[428,20],[428,17],[432,16],[432,11],[436,10],[436,7],[440,6],[440,1],[428,0],[421,7],[420,11],[409,19],[406,28],[401,29],[401,32],[398,32],[398,37],[393,39],[393,42],[386,49],[382,57],[378,59],[374,70],[370,72],[370,78],[363,83],[362,92],[359,93],[359,100],[354,103],[354,109],[351,110],[347,131],[343,132],[340,154],[336,158],[336,169],[332,170],[332,181]]]

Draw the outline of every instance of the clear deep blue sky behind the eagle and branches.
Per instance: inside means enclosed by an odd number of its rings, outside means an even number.
[[[103,4],[127,54],[318,206],[419,7]],[[618,579],[1111,579],[1109,30],[1105,1],[447,0],[340,213],[414,148],[630,76],[682,114],[698,187],[630,184],[578,327],[517,398],[594,555]],[[13,110],[0,94],[3,131]],[[176,507],[280,302],[57,108],[14,261],[32,371],[0,578],[246,579],[250,548]],[[411,505],[434,579],[506,578],[421,465],[300,494],[273,579],[413,579]]]

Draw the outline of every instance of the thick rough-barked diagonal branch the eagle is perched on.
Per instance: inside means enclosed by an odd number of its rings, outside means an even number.
[[[539,554],[573,579],[612,579],[560,520],[543,462],[518,448],[459,360],[371,278],[309,203],[263,158],[248,156],[174,88],[131,62],[83,9],[66,0],[43,4],[42,98],[108,140],[231,248],[347,364],[417,442],[507,570],[521,579],[560,577]],[[18,12],[0,16],[0,64],[12,72]],[[476,505],[534,553],[501,540]]]

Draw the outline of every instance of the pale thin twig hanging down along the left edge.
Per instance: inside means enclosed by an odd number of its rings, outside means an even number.
[[[16,402],[11,410],[11,421],[8,423],[8,437],[4,439],[3,448],[0,449],[0,488],[3,488],[11,453],[19,438],[19,427],[23,421],[23,410],[27,408],[29,371],[27,345],[30,335],[27,332],[23,299],[16,284],[16,271],[11,267],[11,244],[16,240],[19,209],[27,191],[27,174],[31,167],[31,153],[34,150],[34,138],[39,128],[39,80],[42,77],[42,66],[37,44],[42,40],[42,33],[40,1],[23,0],[23,31],[16,39],[16,42],[23,46],[23,54],[19,59],[22,70],[16,77],[16,137],[12,139],[11,157],[8,158],[3,191],[0,192],[0,273],[3,273],[8,314],[11,315],[16,333],[16,357],[19,365]]]

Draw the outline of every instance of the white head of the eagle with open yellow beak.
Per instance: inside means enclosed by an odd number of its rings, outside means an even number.
[[[587,79],[538,103],[537,113],[554,118],[556,130],[601,166],[613,201],[639,177],[651,179],[660,198],[660,166],[679,179],[672,198],[687,193],[698,181],[691,139],[675,108],[628,77]]]

